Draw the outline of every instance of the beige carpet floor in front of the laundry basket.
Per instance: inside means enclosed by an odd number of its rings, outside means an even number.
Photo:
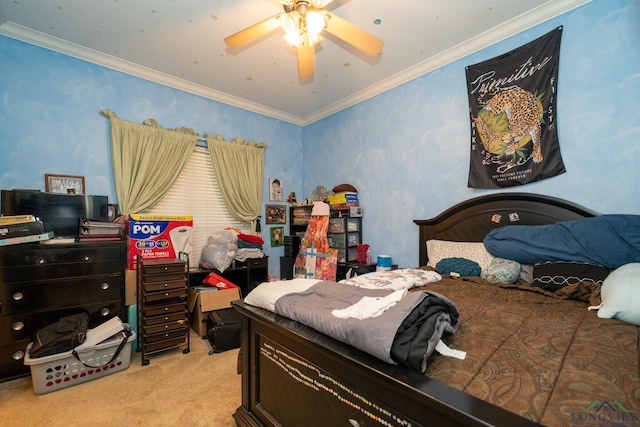
[[[3,426],[235,426],[241,404],[239,350],[209,355],[191,334],[191,352],[149,356],[129,368],[73,387],[37,395],[31,377],[0,383]]]

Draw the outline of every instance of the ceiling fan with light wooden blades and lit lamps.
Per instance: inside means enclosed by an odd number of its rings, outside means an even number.
[[[361,51],[376,56],[382,52],[382,40],[323,8],[333,0],[282,0],[284,12],[251,25],[224,39],[229,47],[249,43],[282,28],[285,39],[298,48],[298,75],[311,77],[314,70],[314,44],[326,31]]]

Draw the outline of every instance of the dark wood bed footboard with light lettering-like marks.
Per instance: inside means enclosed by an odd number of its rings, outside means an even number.
[[[300,323],[233,306],[243,315],[238,426],[538,425]]]

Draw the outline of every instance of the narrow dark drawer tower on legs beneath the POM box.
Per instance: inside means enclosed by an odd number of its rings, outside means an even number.
[[[187,310],[188,262],[179,258],[138,262],[138,341],[142,365],[147,355],[186,346],[189,353]]]

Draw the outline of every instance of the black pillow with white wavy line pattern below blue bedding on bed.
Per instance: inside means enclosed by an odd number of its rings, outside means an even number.
[[[555,292],[578,282],[602,281],[609,275],[609,269],[586,262],[541,262],[533,266],[533,286]]]

